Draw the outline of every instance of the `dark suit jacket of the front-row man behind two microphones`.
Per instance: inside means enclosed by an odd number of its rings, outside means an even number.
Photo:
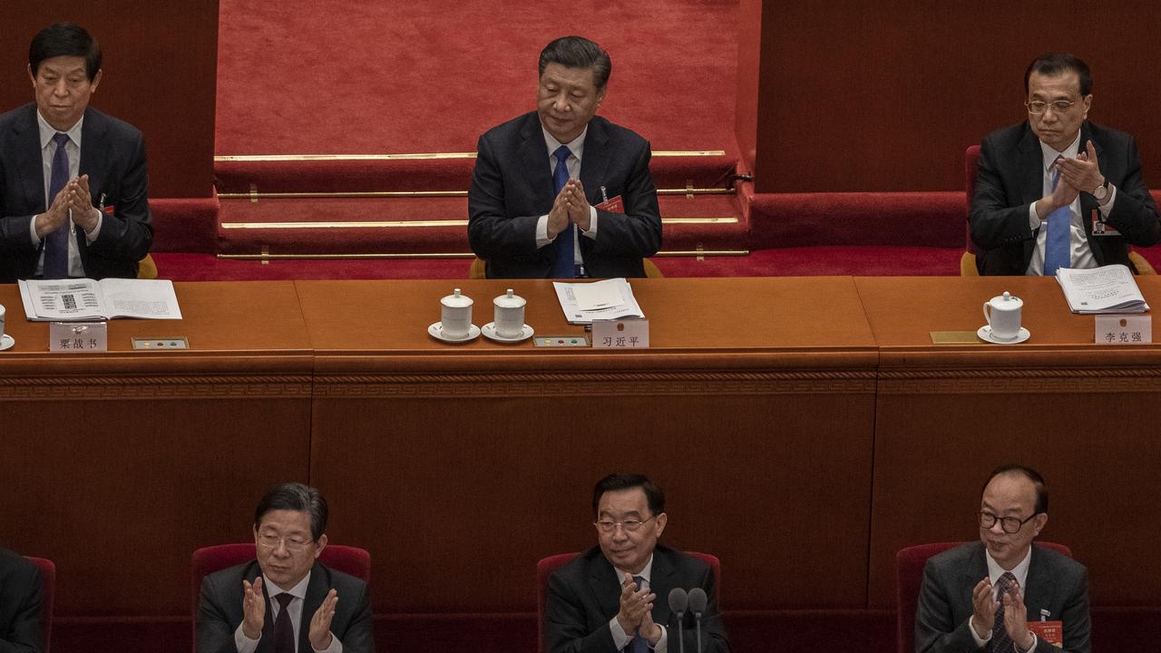
[[[669,591],[675,587],[706,590],[709,603],[701,618],[701,643],[705,653],[728,653],[726,626],[717,612],[714,573],[705,562],[682,552],[657,545],[654,550],[650,591],[654,622],[669,630],[669,651],[677,653],[677,617],[669,610]],[[621,583],[616,569],[593,547],[548,577],[545,609],[545,651],[548,653],[615,653],[608,622],[620,610]],[[684,640],[687,652],[698,650],[693,615],[686,612]],[[632,633],[629,633],[632,634]]]

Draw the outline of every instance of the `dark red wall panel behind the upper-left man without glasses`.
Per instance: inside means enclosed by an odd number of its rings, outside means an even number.
[[[0,2],[0,112],[33,100],[28,45],[60,21],[80,23],[101,44],[92,106],[145,134],[150,195],[211,196],[218,0]]]

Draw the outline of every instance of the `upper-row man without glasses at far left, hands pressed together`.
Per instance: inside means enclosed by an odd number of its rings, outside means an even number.
[[[88,106],[101,48],[58,23],[29,49],[36,102],[0,115],[0,282],[137,275],[153,229],[145,143]]]

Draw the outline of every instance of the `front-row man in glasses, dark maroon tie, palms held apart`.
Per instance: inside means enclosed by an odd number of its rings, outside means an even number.
[[[323,495],[302,483],[262,497],[254,511],[258,559],[202,580],[199,652],[375,651],[367,584],[317,561],[326,514]]]

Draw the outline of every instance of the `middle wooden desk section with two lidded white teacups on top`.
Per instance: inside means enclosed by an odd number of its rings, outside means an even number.
[[[666,490],[668,541],[729,560],[731,608],[865,604],[877,353],[850,278],[634,281],[644,352],[426,333],[453,287],[477,325],[513,288],[538,333],[580,333],[547,281],[296,287],[333,541],[406,588],[377,611],[529,609],[540,557],[596,544],[592,485],[614,471]]]

